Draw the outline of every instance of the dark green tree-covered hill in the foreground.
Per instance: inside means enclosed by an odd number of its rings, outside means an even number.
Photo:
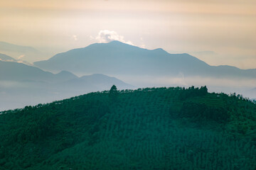
[[[256,169],[256,106],[201,89],[102,91],[0,115],[0,169]]]

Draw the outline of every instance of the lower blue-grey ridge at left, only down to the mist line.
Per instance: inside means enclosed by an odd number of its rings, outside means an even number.
[[[113,84],[122,86],[122,89],[132,87],[125,84],[115,77],[108,77],[104,74],[92,74],[83,77],[77,77],[75,74],[67,71],[53,74],[51,72],[44,72],[37,67],[28,66],[18,62],[3,62],[0,60],[0,81],[40,81],[45,83],[59,83],[67,86],[68,84],[77,84],[85,86],[85,84],[94,84],[100,87],[102,84],[109,87]],[[100,89],[105,89],[101,87]]]

